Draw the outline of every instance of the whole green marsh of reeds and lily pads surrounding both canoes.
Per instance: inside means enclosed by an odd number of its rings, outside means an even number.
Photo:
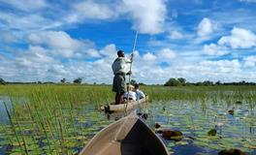
[[[240,140],[237,143],[245,151],[256,147],[249,139],[253,135],[248,133],[256,127],[256,86],[143,85],[142,89],[153,101],[148,107],[152,116],[149,121],[177,127],[184,133],[183,142],[171,141],[169,146],[191,143],[186,140],[191,134],[196,145],[212,149],[235,147],[233,140]],[[113,121],[98,110],[113,99],[111,85],[0,85],[0,108],[6,111],[0,117],[5,116],[9,122],[0,125],[0,150],[2,147],[11,154],[76,154]],[[234,115],[228,114],[233,107]],[[237,121],[235,117],[240,117],[239,123],[227,123]],[[216,138],[208,138],[208,131],[221,123],[227,125],[216,128]],[[220,136],[230,139],[220,140]]]

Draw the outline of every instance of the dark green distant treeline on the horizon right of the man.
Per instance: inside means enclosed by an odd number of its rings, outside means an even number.
[[[189,82],[186,81],[186,78],[170,78],[165,84],[165,86],[189,86],[189,85],[256,85],[256,82],[247,82],[245,80],[239,82],[221,82],[220,80],[214,82],[210,80],[198,81],[198,82]]]

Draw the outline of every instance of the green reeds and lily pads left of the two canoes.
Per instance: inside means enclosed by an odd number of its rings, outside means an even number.
[[[1,146],[12,148],[10,153],[78,153],[77,148],[110,123],[97,110],[100,103],[111,102],[109,87],[4,85],[0,94],[10,97],[4,103],[10,123],[0,128]]]

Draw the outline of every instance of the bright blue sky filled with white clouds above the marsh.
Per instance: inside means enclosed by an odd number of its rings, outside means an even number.
[[[255,25],[256,0],[0,0],[0,78],[112,83],[138,31],[138,82],[256,82]]]

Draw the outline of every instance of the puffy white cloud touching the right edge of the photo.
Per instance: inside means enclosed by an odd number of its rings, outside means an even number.
[[[231,36],[222,37],[218,44],[232,48],[256,47],[256,35],[249,30],[234,27]]]

